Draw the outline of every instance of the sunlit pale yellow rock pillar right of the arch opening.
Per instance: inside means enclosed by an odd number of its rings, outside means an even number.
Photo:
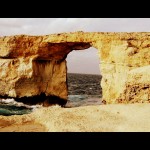
[[[104,40],[97,45],[99,46],[97,48],[103,76],[101,82],[103,99],[108,103],[133,103],[150,100],[149,41]]]

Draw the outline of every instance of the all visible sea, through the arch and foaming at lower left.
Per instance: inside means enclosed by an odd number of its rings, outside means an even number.
[[[65,108],[83,107],[102,104],[101,75],[67,74],[68,101]],[[0,115],[23,115],[42,107],[27,105],[12,99],[0,99]]]

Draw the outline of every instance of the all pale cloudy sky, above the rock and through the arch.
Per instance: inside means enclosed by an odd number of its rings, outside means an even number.
[[[0,18],[0,36],[62,32],[150,32],[150,18]],[[68,72],[100,74],[97,50],[73,51]]]

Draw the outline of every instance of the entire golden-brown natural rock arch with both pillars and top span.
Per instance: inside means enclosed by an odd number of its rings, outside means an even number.
[[[74,32],[1,37],[0,96],[28,102],[42,96],[49,98],[49,102],[60,98],[60,104],[65,104],[65,59],[72,50],[89,47],[98,50],[103,100],[149,102],[150,33]]]

